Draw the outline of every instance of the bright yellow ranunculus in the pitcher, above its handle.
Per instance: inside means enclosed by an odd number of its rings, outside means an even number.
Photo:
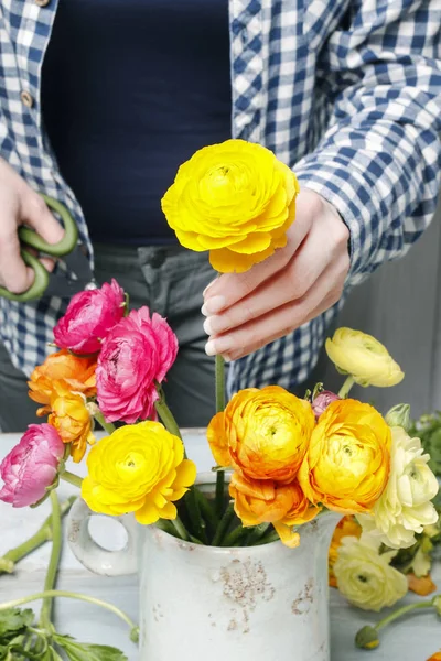
[[[82,496],[94,512],[135,512],[139,523],[175,519],[174,505],[196,479],[184,446],[159,422],[140,422],[99,441],[87,457]]]

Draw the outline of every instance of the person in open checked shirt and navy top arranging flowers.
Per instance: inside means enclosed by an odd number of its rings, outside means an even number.
[[[21,223],[60,238],[35,192],[67,205],[98,280],[116,277],[175,328],[168,387],[181,424],[212,412],[198,308],[213,272],[175,245],[159,201],[197,148],[232,133],[260,142],[302,191],[287,248],[205,292],[206,353],[234,360],[232,389],[303,383],[349,288],[431,220],[434,1],[8,0],[0,21],[0,281],[20,292],[32,280]],[[65,303],[0,302],[4,431],[32,414],[25,373]]]

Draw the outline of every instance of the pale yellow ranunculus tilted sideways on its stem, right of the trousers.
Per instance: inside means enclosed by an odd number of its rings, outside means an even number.
[[[386,347],[361,330],[338,328],[332,339],[326,339],[325,347],[336,368],[351,375],[358,386],[386,388],[405,377]]]

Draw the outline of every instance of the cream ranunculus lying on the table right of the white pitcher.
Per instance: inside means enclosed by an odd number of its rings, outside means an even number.
[[[380,542],[363,533],[361,539],[342,540],[334,574],[338,590],[363,610],[381,610],[401,599],[408,590],[407,577],[390,566],[397,551],[379,554]]]

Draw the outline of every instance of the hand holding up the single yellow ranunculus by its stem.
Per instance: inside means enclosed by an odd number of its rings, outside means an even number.
[[[236,360],[334,305],[349,269],[349,231],[313,191],[298,197],[288,243],[245,273],[226,273],[204,292],[208,356]]]

